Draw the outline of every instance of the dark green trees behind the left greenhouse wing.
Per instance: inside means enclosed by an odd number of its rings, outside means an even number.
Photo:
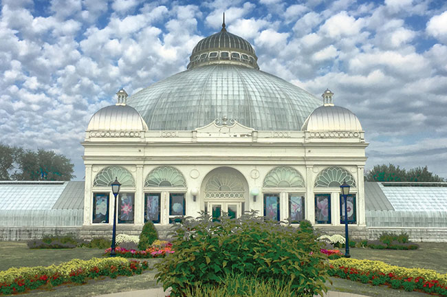
[[[74,165],[54,151],[25,150],[0,144],[0,179],[65,181],[73,177]]]

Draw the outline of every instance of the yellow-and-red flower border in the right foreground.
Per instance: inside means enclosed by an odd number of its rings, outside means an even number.
[[[447,296],[447,274],[439,274],[434,270],[399,267],[382,261],[342,258],[330,260],[329,275],[372,285],[388,285],[407,292],[419,290]]]

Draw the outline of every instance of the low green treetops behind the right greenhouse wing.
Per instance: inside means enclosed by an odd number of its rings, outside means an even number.
[[[428,181],[442,182],[442,177],[428,171],[428,167],[415,167],[405,170],[393,164],[375,165],[365,175],[367,181]]]

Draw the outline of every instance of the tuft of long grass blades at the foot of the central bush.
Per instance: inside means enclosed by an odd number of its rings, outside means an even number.
[[[276,279],[259,279],[243,274],[229,274],[222,285],[197,284],[186,290],[186,297],[290,297],[298,296],[292,289],[292,282]]]

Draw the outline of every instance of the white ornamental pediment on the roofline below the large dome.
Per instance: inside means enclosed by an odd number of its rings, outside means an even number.
[[[195,129],[197,137],[253,137],[254,129],[243,126],[237,120],[223,117],[206,126]]]

